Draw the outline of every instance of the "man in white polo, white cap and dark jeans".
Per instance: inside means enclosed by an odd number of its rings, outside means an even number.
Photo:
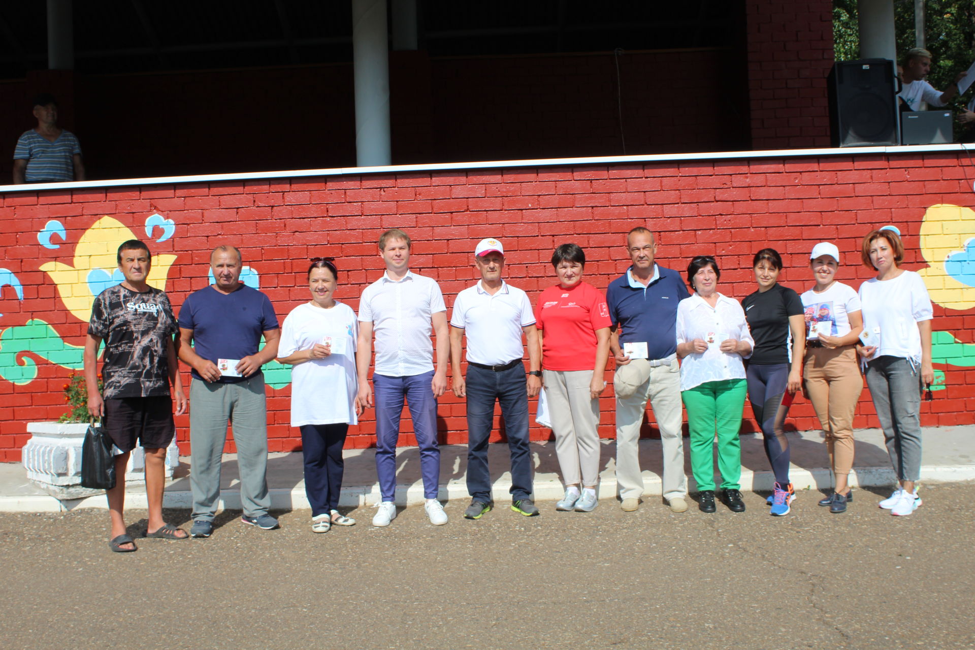
[[[468,519],[480,519],[493,507],[487,440],[494,420],[494,402],[501,404],[505,435],[511,451],[511,509],[538,515],[531,501],[531,454],[528,449],[528,398],[541,389],[541,351],[531,302],[525,291],[501,279],[504,248],[485,239],[474,249],[474,266],[481,282],[457,294],[450,318],[450,361],[453,394],[467,399]],[[528,345],[530,371],[526,374]],[[460,372],[460,344],[467,334],[467,377]]]

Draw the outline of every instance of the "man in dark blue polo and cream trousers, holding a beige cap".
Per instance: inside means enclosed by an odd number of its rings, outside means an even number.
[[[681,371],[677,362],[677,305],[688,297],[677,271],[654,263],[657,245],[643,227],[630,231],[626,249],[633,265],[609,283],[612,319],[609,348],[616,359],[616,482],[620,507],[635,511],[643,495],[638,441],[646,401],[663,442],[664,499],[675,513],[687,510],[683,475]]]

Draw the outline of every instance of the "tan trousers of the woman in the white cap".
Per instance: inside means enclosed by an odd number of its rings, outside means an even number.
[[[834,474],[853,468],[853,413],[863,392],[856,348],[808,348],[803,369],[805,390],[826,434]]]

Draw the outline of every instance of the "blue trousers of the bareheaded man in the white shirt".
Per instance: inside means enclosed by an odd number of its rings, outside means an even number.
[[[437,399],[433,397],[433,370],[409,377],[372,374],[375,387],[375,472],[383,501],[396,496],[396,444],[400,441],[403,401],[409,404],[413,435],[420,448],[423,496],[436,499],[440,490],[440,447],[437,445]]]

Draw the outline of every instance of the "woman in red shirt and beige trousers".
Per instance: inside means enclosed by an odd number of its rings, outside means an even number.
[[[539,296],[535,325],[556,454],[565,482],[565,496],[556,510],[588,513],[598,505],[597,427],[609,358],[609,309],[603,292],[582,282],[586,266],[582,249],[563,244],[555,249],[552,266],[559,284]]]

